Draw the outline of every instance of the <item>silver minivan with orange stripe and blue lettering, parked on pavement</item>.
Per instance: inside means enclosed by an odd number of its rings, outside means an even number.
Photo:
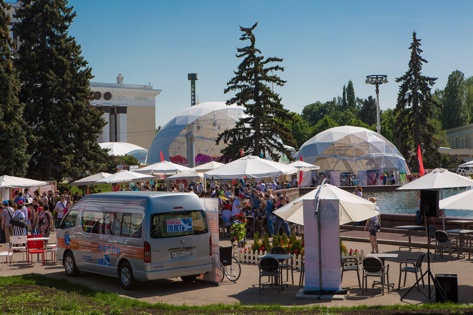
[[[181,277],[212,269],[209,223],[193,193],[123,191],[88,195],[57,231],[57,257],[68,276],[80,270],[136,281]]]

